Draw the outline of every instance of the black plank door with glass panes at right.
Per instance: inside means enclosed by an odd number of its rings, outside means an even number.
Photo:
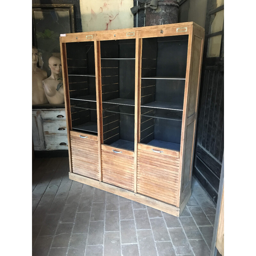
[[[208,0],[193,172],[217,203],[224,149],[224,0]]]

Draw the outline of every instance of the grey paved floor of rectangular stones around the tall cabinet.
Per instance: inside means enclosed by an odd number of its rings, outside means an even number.
[[[216,205],[195,178],[174,217],[68,178],[68,158],[36,158],[33,256],[209,256]]]

